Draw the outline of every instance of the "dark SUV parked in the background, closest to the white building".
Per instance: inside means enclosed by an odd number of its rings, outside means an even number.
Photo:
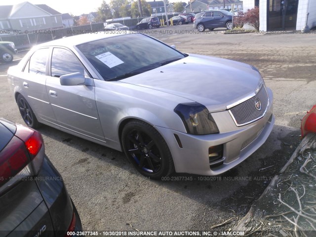
[[[233,29],[233,14],[226,10],[210,10],[197,13],[194,18],[193,26],[199,32],[205,29],[214,30],[215,28],[226,27],[228,30]]]

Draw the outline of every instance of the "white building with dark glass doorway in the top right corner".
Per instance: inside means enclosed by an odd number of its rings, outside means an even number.
[[[304,29],[316,26],[316,0],[243,0],[243,11],[259,5],[260,30]]]

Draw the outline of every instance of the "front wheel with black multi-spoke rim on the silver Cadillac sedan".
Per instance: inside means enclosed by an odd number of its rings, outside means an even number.
[[[142,175],[159,179],[174,171],[167,143],[153,126],[144,121],[135,119],[124,126],[122,146],[126,157]]]

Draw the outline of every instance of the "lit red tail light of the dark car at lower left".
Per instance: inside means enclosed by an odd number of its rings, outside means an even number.
[[[19,124],[16,128],[15,135],[0,152],[0,192],[37,174],[44,158],[40,133]]]

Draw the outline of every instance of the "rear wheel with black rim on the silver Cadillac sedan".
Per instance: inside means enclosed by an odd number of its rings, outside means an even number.
[[[26,125],[32,128],[38,128],[40,126],[40,122],[36,118],[30,104],[22,95],[18,95],[17,104],[20,110],[20,114]]]

